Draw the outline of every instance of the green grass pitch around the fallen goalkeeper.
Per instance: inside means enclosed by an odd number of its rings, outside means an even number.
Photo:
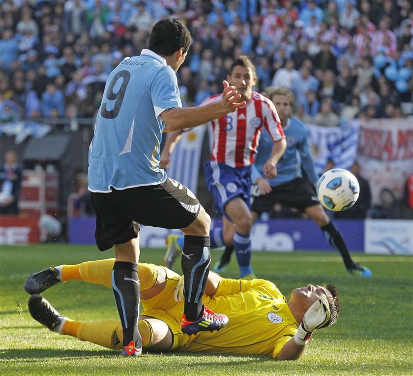
[[[164,250],[141,250],[141,260],[160,263]],[[212,251],[212,264],[219,256]],[[29,273],[51,265],[112,257],[112,251],[73,245],[0,247],[1,375],[413,375],[413,257],[356,254],[373,278],[347,274],[334,252],[253,252],[260,278],[275,282],[288,297],[308,283],[333,283],[341,316],[317,331],[294,362],[264,356],[148,354],[122,358],[119,352],[49,332],[27,309],[23,283]],[[235,259],[228,276],[237,277]],[[44,293],[71,318],[116,318],[112,291],[67,282]]]

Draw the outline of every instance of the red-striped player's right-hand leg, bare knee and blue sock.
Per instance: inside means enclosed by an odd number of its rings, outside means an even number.
[[[255,278],[251,268],[251,212],[241,197],[229,201],[225,206],[225,212],[235,224],[234,249],[240,276],[241,278]]]

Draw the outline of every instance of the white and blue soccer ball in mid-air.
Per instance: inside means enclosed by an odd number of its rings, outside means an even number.
[[[360,186],[356,177],[342,168],[324,172],[316,186],[317,197],[324,208],[334,212],[350,209],[357,201]]]

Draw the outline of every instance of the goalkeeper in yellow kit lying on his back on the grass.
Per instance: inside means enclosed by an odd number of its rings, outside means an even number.
[[[38,295],[59,282],[71,280],[111,288],[114,261],[60,265],[30,275],[25,289],[32,294],[29,311],[33,318],[60,334],[121,349],[119,320],[74,321]],[[180,329],[183,277],[166,267],[143,263],[138,265],[138,275],[143,305],[138,327],[148,352],[261,354],[294,360],[301,356],[312,332],[333,324],[340,310],[332,285],[296,288],[287,302],[272,282],[232,280],[209,272],[203,302],[211,310],[225,313],[229,323],[219,333],[188,336]]]

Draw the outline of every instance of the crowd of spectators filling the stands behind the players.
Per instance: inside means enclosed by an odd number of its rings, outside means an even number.
[[[110,71],[163,17],[194,39],[178,71],[183,105],[220,93],[245,54],[257,90],[292,89],[304,121],[413,113],[409,0],[0,0],[0,122],[93,117]]]

